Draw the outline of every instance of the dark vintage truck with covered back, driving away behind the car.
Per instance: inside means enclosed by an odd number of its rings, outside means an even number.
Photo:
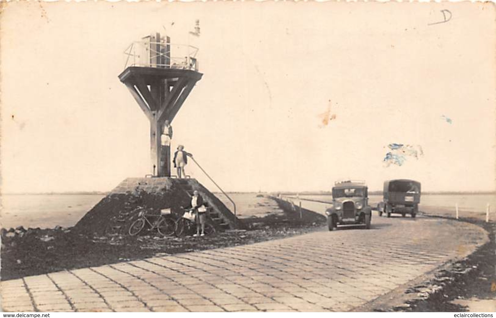
[[[420,182],[408,179],[384,181],[382,209],[379,216],[385,213],[389,218],[391,213],[401,213],[404,217],[409,213],[415,218],[419,212]]]

